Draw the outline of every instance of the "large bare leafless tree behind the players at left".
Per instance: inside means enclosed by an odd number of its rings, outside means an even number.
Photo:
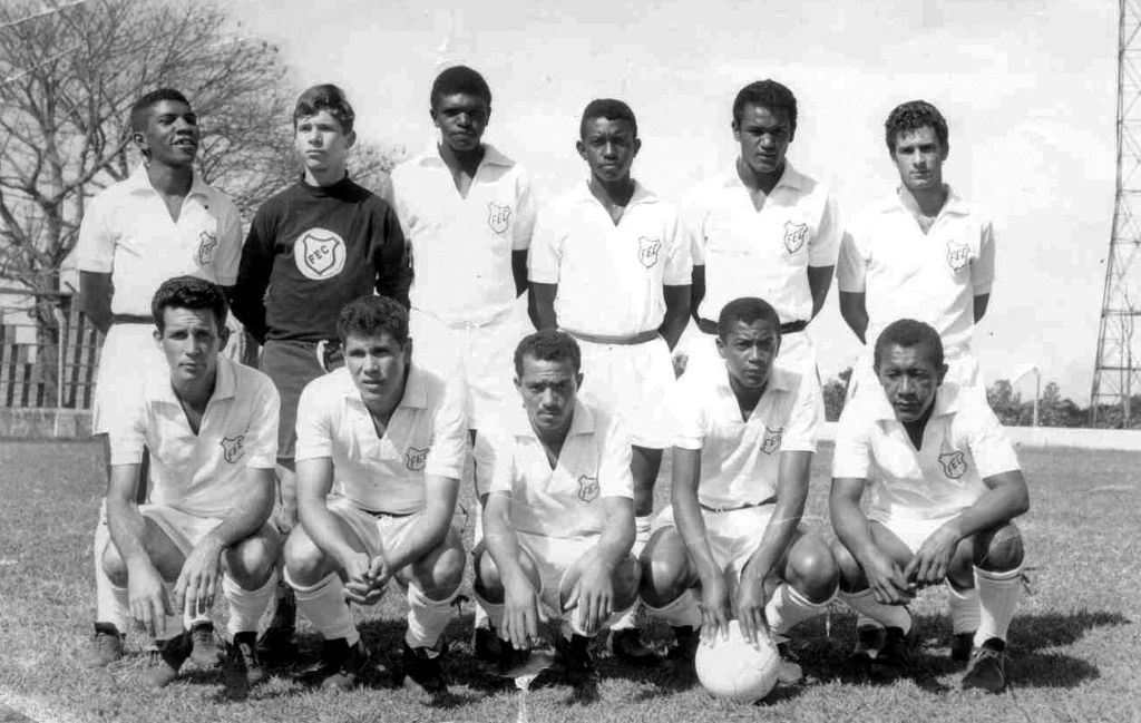
[[[245,218],[298,169],[288,67],[225,10],[200,0],[44,1],[0,2],[0,278],[38,294],[41,354],[54,359],[50,294],[60,291],[87,200],[137,162],[128,117],[136,98],[171,87],[191,99],[203,178]],[[398,159],[367,144],[355,155],[366,185]]]

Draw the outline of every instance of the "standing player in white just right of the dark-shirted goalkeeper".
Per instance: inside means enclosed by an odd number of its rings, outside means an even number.
[[[439,140],[396,166],[389,200],[412,250],[416,364],[466,382],[474,438],[488,409],[515,399],[507,369],[531,326],[516,299],[527,289],[535,206],[523,168],[480,141],[492,111],[483,75],[445,70],[430,104]],[[489,657],[494,636],[482,617],[477,608],[476,650]]]

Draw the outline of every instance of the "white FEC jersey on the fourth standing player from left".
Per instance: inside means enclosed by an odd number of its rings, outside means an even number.
[[[632,336],[665,318],[662,286],[686,286],[693,263],[673,206],[641,184],[617,225],[586,184],[539,216],[531,281],[558,284],[559,326],[582,334]]]

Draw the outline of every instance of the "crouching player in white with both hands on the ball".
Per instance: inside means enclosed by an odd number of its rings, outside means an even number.
[[[750,641],[768,628],[792,684],[802,673],[788,632],[824,611],[839,578],[827,543],[801,525],[818,387],[774,366],[780,318],[761,299],[727,303],[715,344],[725,363],[679,382],[673,504],[642,551],[641,596],[673,626],[675,663],[693,661],[698,627],[712,641],[736,617]]]

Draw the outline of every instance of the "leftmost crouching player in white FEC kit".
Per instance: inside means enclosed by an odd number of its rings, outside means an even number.
[[[261,680],[258,619],[276,585],[281,541],[274,507],[278,397],[265,374],[220,358],[221,289],[180,276],[151,304],[167,368],[143,380],[110,421],[111,542],[96,554],[116,607],[157,640],[146,684],[162,688],[191,656],[184,611],[209,614],[219,587],[229,603],[227,684]],[[151,504],[139,505],[143,448],[151,450]],[[114,620],[127,629],[126,620]],[[216,660],[197,661],[210,665]]]

